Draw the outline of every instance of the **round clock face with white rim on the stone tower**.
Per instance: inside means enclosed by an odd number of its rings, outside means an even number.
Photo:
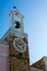
[[[13,46],[20,52],[24,52],[26,49],[26,44],[24,43],[22,38],[15,38],[13,40]]]

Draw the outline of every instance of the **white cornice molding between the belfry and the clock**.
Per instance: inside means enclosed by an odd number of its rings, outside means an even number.
[[[27,38],[27,36],[28,36],[26,33],[20,33],[17,31],[13,32],[12,28],[9,28],[8,32],[1,38],[1,40],[4,40],[5,37],[8,38],[11,34],[14,34],[14,36],[17,36],[17,37],[21,37],[21,38],[23,38],[23,37]]]

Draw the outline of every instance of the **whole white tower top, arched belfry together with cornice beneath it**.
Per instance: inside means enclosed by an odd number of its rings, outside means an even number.
[[[24,33],[24,24],[23,24],[23,19],[24,16],[21,14],[19,10],[15,9],[11,10],[10,14],[10,28],[8,32],[3,35],[2,40],[8,40],[10,39],[10,35],[14,35],[17,37],[27,37],[27,34]]]

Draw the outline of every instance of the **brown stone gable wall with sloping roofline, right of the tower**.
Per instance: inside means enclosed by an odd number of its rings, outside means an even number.
[[[46,68],[46,64],[45,64],[45,57],[43,57],[37,62],[35,62],[34,64],[32,64],[32,67],[35,67],[35,68],[42,69],[44,71],[47,71],[47,68]]]

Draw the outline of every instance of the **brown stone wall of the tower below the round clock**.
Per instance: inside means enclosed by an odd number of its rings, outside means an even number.
[[[10,43],[9,68],[10,71],[30,71],[28,47],[21,54],[15,50],[13,43]]]

